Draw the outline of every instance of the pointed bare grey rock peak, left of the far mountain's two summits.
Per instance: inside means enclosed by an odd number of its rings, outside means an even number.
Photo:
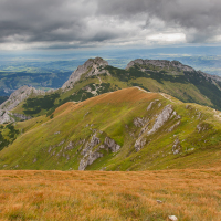
[[[73,87],[74,83],[80,81],[82,74],[86,76],[103,74],[106,71],[102,67],[108,65],[108,62],[102,57],[90,59],[83,65],[80,65],[70,76],[70,78],[63,84],[62,90],[67,91]]]

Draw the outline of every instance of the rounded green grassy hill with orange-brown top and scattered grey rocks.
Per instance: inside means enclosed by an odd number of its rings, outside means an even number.
[[[220,164],[221,113],[137,87],[18,123],[0,169],[147,170]],[[161,120],[161,122],[160,122]]]

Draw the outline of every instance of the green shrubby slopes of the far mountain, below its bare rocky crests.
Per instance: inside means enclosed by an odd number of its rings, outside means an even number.
[[[103,71],[105,70],[106,73],[87,76],[91,69],[82,73],[80,81],[69,87],[69,91],[57,90],[45,97],[29,98],[12,112],[32,116],[48,112],[49,116],[66,102],[82,102],[103,93],[130,86],[139,86],[148,92],[162,92],[186,103],[221,109],[221,91],[210,78],[198,72],[183,72],[154,65],[134,65],[129,70],[105,66]]]

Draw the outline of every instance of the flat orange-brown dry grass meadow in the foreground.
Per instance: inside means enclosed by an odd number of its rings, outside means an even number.
[[[0,183],[1,220],[221,220],[221,168],[14,170]]]

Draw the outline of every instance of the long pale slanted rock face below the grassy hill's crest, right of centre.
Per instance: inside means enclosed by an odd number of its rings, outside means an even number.
[[[172,112],[173,112],[172,105],[168,104],[162,109],[162,112],[158,115],[152,128],[147,134],[150,135],[157,131],[170,118],[170,115],[172,114]]]

